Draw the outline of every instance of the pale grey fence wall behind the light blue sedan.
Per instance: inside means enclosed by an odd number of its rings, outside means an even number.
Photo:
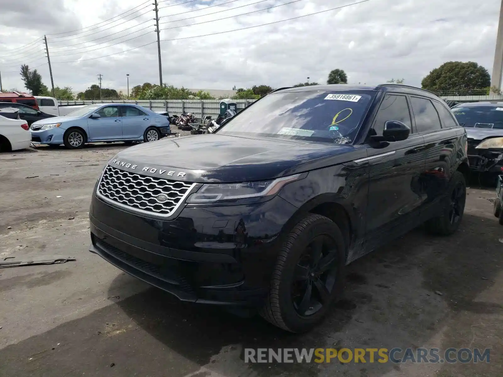
[[[234,100],[237,112],[256,100]],[[216,118],[220,114],[219,100],[93,100],[93,101],[58,101],[59,105],[92,105],[92,104],[136,104],[152,111],[167,111],[180,115],[183,112],[192,113],[197,118],[211,115]]]

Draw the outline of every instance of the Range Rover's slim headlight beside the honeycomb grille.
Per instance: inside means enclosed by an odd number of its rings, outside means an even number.
[[[301,176],[302,174],[290,175],[261,182],[204,184],[197,193],[187,199],[187,203],[213,203],[272,196],[277,194],[285,184]]]

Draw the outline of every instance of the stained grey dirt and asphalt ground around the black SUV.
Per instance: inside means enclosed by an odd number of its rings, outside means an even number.
[[[417,229],[352,263],[341,302],[299,336],[182,304],[88,251],[91,191],[122,148],[0,154],[0,256],[76,258],[0,269],[0,376],[503,375],[503,227],[492,189],[470,187],[455,236]],[[489,363],[246,364],[245,347],[491,350]]]

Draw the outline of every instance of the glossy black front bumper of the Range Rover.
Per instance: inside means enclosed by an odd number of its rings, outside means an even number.
[[[255,205],[185,207],[175,220],[163,221],[93,193],[90,251],[182,301],[259,307],[281,232],[296,210],[275,197]]]

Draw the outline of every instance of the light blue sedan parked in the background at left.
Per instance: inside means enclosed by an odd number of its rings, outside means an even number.
[[[86,143],[155,141],[170,135],[166,116],[137,105],[96,104],[80,107],[64,117],[34,122],[32,142],[81,148]]]

